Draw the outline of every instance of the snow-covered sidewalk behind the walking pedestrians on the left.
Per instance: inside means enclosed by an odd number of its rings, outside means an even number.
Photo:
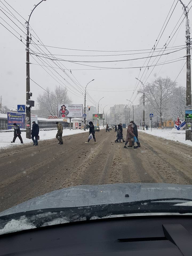
[[[63,136],[68,136],[68,135],[73,135],[73,134],[78,134],[78,133],[85,133],[89,130],[69,130],[69,129],[64,129],[63,130]],[[39,131],[39,137],[40,140],[45,140],[45,139],[53,139],[55,138],[57,133],[57,130],[51,130],[51,131]],[[21,137],[23,139],[23,143],[33,143],[31,139],[26,138],[26,132],[21,133]],[[56,139],[56,138],[55,138]],[[18,145],[22,145],[19,138],[16,139],[15,143],[11,143],[13,141],[13,132],[10,133],[0,133],[0,149],[3,149],[5,147],[14,147]]]

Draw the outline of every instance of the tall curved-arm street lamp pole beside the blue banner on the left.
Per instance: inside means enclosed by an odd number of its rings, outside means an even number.
[[[41,2],[46,1],[42,0]],[[33,10],[31,11],[31,14],[35,10],[35,8],[41,3],[39,2]],[[31,14],[29,15],[29,20],[31,17]],[[26,138],[31,139],[31,106],[29,106],[29,100],[30,96],[32,96],[32,93],[30,93],[30,72],[29,72],[29,20],[25,22],[27,26],[27,40],[26,40],[26,52],[27,52],[27,61],[26,61]]]

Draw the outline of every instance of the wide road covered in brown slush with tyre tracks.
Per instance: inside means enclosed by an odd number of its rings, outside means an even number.
[[[126,129],[123,129],[124,138]],[[114,130],[24,144],[0,151],[0,211],[63,187],[125,182],[192,184],[192,147],[139,132],[141,148],[115,143]],[[188,168],[185,165],[188,164]]]

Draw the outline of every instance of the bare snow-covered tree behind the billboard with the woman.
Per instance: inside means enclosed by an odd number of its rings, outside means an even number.
[[[71,104],[72,100],[68,96],[66,87],[55,86],[54,91],[51,91],[49,87],[47,91],[39,94],[37,97],[37,112],[39,117],[49,117],[50,115],[58,115],[58,104]]]

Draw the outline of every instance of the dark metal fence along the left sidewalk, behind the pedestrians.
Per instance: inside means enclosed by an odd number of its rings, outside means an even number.
[[[63,128],[70,127],[70,124],[67,122],[59,122],[63,126]],[[46,128],[57,128],[56,121],[38,121],[39,129]],[[71,123],[71,127],[73,127],[73,123]],[[0,130],[7,130],[7,119],[0,118]]]

